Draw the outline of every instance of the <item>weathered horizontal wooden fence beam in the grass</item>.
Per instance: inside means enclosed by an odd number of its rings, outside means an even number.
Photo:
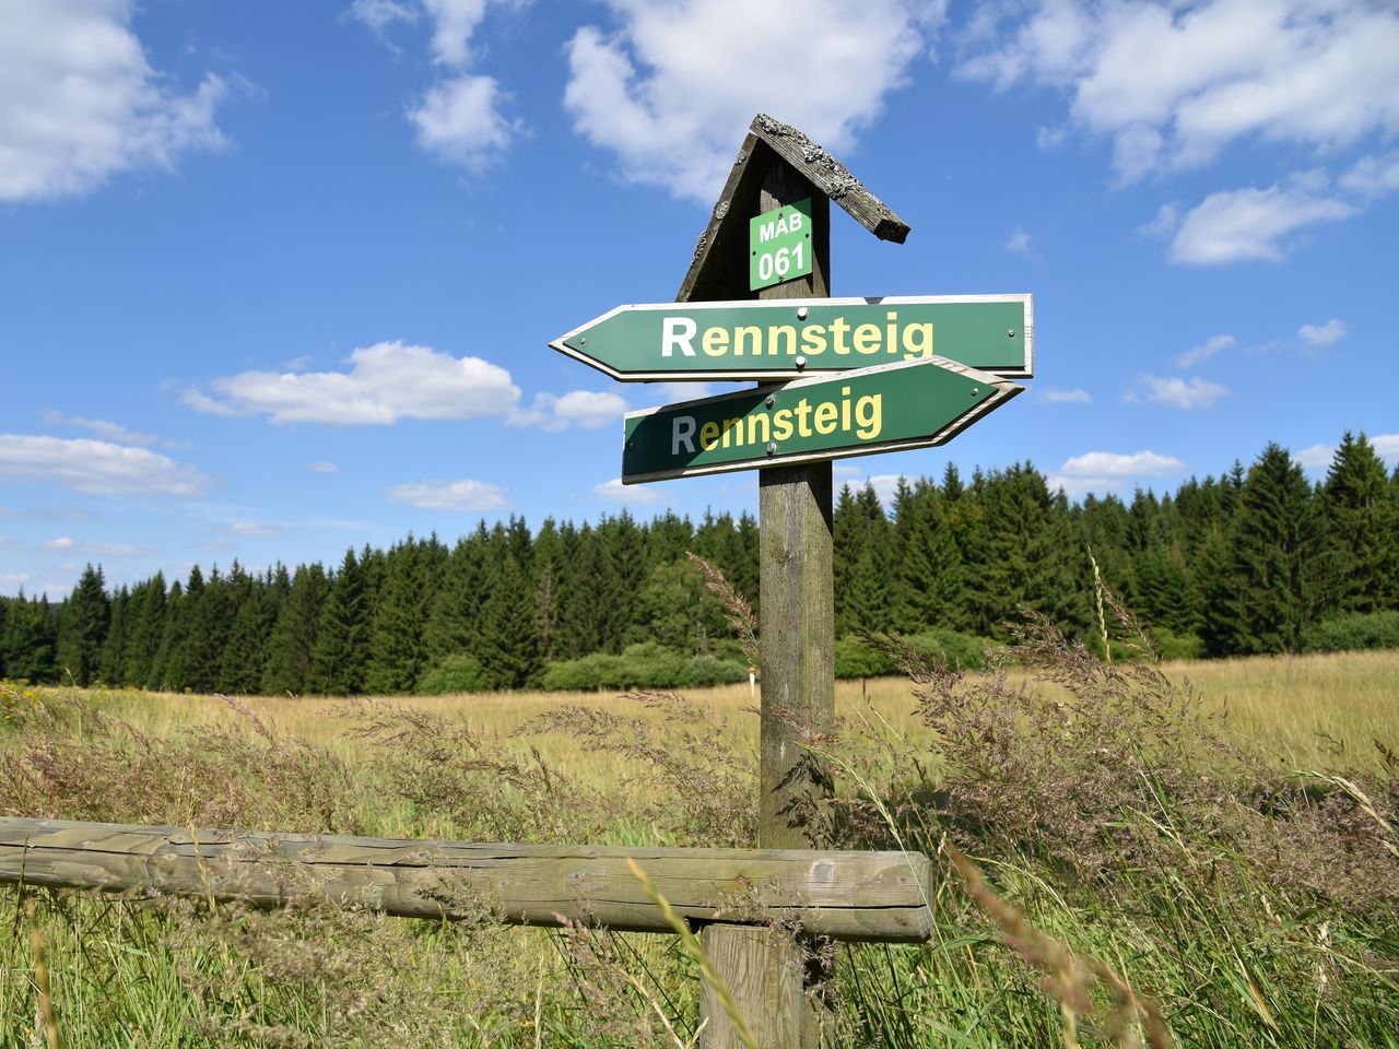
[[[238,899],[320,895],[403,918],[669,933],[635,859],[693,925],[782,922],[835,940],[922,943],[921,853],[494,845],[0,818],[0,884]]]

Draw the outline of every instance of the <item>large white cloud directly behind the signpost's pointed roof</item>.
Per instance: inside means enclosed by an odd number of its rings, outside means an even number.
[[[574,129],[631,182],[713,199],[757,112],[846,150],[942,22],[918,0],[607,0],[568,43]]]

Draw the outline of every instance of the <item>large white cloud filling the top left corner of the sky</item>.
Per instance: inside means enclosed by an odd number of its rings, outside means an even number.
[[[151,69],[132,0],[6,3],[0,21],[0,200],[74,196],[134,168],[218,148],[210,74],[190,95]]]

